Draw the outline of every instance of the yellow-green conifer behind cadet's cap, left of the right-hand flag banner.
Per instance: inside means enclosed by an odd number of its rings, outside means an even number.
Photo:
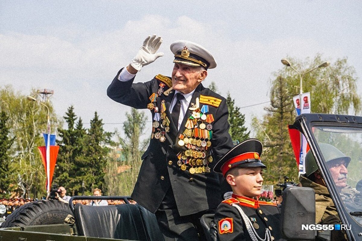
[[[261,123],[253,119],[256,138],[264,145],[261,159],[267,166],[263,171],[265,184],[283,182],[283,176],[298,180],[298,169],[287,130],[287,125],[294,122],[295,110],[289,93],[285,91],[286,87],[285,79],[277,77],[271,87],[271,104],[265,108],[268,113]]]

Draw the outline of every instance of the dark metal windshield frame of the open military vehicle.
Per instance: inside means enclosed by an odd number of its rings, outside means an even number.
[[[295,123],[292,125],[292,128],[299,130],[306,137],[313,156],[316,159],[317,165],[321,170],[327,189],[337,208],[342,224],[352,225],[352,229],[346,231],[349,239],[357,240],[360,238],[358,234],[362,233],[362,226],[348,213],[344,202],[341,200],[337,187],[319,148],[318,142],[313,135],[312,127],[314,126],[355,127],[361,128],[362,130],[362,117],[332,114],[302,114],[296,118]]]

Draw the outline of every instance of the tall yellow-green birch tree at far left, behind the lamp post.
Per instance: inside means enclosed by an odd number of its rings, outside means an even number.
[[[37,92],[32,90],[30,95],[37,96]],[[58,125],[51,102],[43,104],[49,107],[52,126]],[[14,190],[22,197],[40,198],[46,193],[46,177],[37,147],[45,144],[42,133],[47,130],[47,110],[39,102],[15,93],[11,86],[0,90],[0,109],[8,116],[9,138],[14,139],[9,150]]]

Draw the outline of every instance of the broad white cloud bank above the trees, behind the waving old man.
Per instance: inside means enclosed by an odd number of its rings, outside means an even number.
[[[136,82],[150,80],[158,73],[169,75],[173,59],[169,45],[178,39],[187,39],[209,49],[218,63],[216,69],[210,69],[205,85],[215,81],[220,92],[226,96],[229,91],[239,106],[269,100],[271,72],[282,68],[280,59],[286,55],[300,59],[313,57],[317,52],[331,58],[344,56],[340,48],[325,47],[312,36],[240,41],[215,29],[218,27],[187,16],[171,21],[164,16],[146,15],[126,22],[118,30],[102,33],[60,28],[47,35],[2,34],[1,85],[13,84],[23,93],[29,93],[31,87],[54,89],[52,101],[60,117],[68,106],[74,105],[76,114],[84,122],[89,122],[97,110],[104,122],[114,123],[123,122],[129,108],[111,101],[106,96],[106,88],[118,69],[130,62],[144,38],[153,33],[163,37],[160,51],[165,56],[143,68]],[[263,106],[242,109],[247,124],[252,115],[261,117]],[[113,127],[105,126],[108,130]]]

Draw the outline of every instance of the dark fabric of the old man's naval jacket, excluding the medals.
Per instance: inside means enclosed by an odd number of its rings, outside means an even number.
[[[172,86],[171,78],[162,75],[157,75],[146,83],[133,83],[134,78],[122,82],[117,79],[120,71],[109,85],[107,94],[112,100],[136,109],[147,108],[147,105],[151,103],[150,96],[152,93],[157,93],[160,84],[165,85],[163,91]],[[213,172],[212,168],[233,146],[228,133],[230,128],[228,108],[225,98],[203,87],[202,84],[199,84],[195,89],[189,107],[201,95],[210,97],[208,114],[212,114],[214,117],[210,147],[213,161],[209,165],[210,173],[191,174],[189,167],[183,171],[177,165],[179,160],[177,154],[186,150],[185,146],[178,145],[179,135],[184,133],[186,120],[190,117],[192,111],[188,110],[186,112],[178,131],[169,110],[174,91],[169,93],[168,96],[162,93],[156,98],[155,105],[158,110],[160,110],[161,103],[164,100],[165,113],[170,120],[169,132],[164,134],[164,142],[156,138],[150,140],[150,145],[142,156],[142,166],[131,195],[136,202],[151,212],[157,211],[170,187],[172,187],[180,216],[215,209],[222,201],[220,180],[223,177]],[[216,102],[214,106],[212,105],[213,102]],[[200,102],[200,108],[202,105]],[[151,110],[151,113],[153,119],[155,111]]]

